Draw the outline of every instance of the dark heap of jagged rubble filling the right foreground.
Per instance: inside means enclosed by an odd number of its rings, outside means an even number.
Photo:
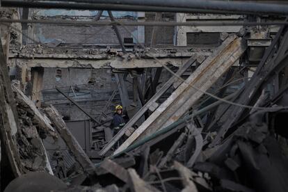
[[[97,181],[113,188],[116,184],[120,191],[287,191],[287,157],[268,126],[258,123],[264,114],[253,116],[222,145],[204,146],[195,163],[198,128],[184,125],[172,135],[175,140],[168,136],[148,142],[97,164]],[[128,159],[132,164],[127,168]]]

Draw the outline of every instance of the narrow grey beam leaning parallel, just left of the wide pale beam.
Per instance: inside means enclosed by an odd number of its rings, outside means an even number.
[[[177,75],[181,76],[191,65],[196,61],[195,57],[191,57],[189,61],[187,61],[179,70],[176,72]],[[171,77],[158,91],[153,97],[127,122],[125,127],[123,127],[118,134],[116,134],[109,143],[107,143],[103,149],[99,152],[100,155],[106,154],[113,145],[125,134],[125,131],[132,127],[141,117],[145,114],[145,112],[149,109],[149,107],[156,102],[165,92],[173,85],[174,81],[177,80],[177,77]]]

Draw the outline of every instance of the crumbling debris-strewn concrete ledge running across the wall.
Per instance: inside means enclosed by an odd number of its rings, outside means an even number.
[[[211,52],[216,48],[202,47],[202,48],[183,48],[177,49],[174,47],[153,47],[153,48],[134,48],[129,51],[129,54],[123,54],[121,49],[107,46],[105,48],[83,46],[82,49],[73,46],[58,45],[57,47],[51,47],[48,45],[24,45],[21,47],[10,47],[10,57],[17,58],[113,58],[116,56],[136,57],[136,58],[151,58],[156,56],[157,58],[173,58],[173,57],[187,57],[192,56],[195,53],[209,56]]]

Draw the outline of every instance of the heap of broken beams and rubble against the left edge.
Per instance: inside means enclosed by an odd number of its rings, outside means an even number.
[[[5,173],[8,178],[4,181],[5,186],[9,179],[30,171],[47,171],[53,174],[38,131],[54,138],[56,134],[47,118],[36,109],[30,99],[17,88],[13,92],[1,43],[0,47],[1,163],[8,168],[8,172],[1,171],[1,177]]]

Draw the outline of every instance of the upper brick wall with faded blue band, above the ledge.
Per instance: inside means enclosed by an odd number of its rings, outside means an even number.
[[[97,11],[92,10],[33,10],[33,19],[62,19],[76,21],[93,21]],[[120,21],[134,21],[137,19],[136,12],[113,11],[113,16]],[[101,21],[110,22],[106,11],[102,13]],[[137,26],[127,26],[131,33],[136,35]],[[122,41],[125,38],[132,38],[132,35],[123,27],[118,26]],[[58,40],[63,44],[82,45],[118,45],[118,38],[111,26],[64,26],[61,24],[33,24],[33,38],[41,43]]]

